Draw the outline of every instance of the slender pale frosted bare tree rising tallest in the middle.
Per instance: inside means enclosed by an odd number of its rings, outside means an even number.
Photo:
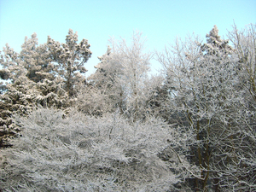
[[[119,84],[124,85],[127,112],[131,113],[134,121],[142,119],[145,102],[145,83],[148,80],[151,54],[145,51],[145,39],[142,32],[134,32],[131,45],[125,39],[115,44],[113,49],[118,54],[119,62],[123,67],[123,75]]]

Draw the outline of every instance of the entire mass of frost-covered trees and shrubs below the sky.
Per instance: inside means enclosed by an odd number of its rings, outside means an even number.
[[[87,79],[77,32],[7,44],[0,190],[256,190],[256,26],[206,38],[154,54],[140,32],[110,39]],[[153,55],[163,70],[150,77]]]

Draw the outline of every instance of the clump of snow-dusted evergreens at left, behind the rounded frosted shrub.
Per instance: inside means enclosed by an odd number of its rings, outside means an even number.
[[[74,90],[84,85],[81,73],[86,71],[83,65],[91,54],[87,40],[77,44],[77,38],[77,33],[70,30],[66,44],[48,38],[48,44],[38,45],[37,35],[33,33],[32,38],[25,38],[20,53],[8,44],[3,48],[0,77],[5,84],[2,83],[0,96],[0,125],[4,125],[1,135],[2,132],[7,135],[14,112],[26,114],[38,104],[55,108],[70,106]]]

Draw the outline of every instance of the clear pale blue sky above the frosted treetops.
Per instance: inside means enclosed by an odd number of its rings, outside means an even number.
[[[195,32],[204,38],[214,25],[224,36],[233,20],[239,28],[255,24],[256,0],[0,0],[0,50],[8,43],[20,51],[33,32],[39,44],[48,35],[65,42],[72,28],[91,44],[92,58],[85,65],[90,74],[110,37],[128,40],[138,30],[148,49],[162,50],[177,36]]]

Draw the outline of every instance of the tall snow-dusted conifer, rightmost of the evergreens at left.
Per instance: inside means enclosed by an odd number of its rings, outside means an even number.
[[[69,97],[75,96],[76,88],[80,84],[85,84],[85,77],[82,74],[87,70],[84,63],[92,54],[88,40],[83,39],[78,43],[78,37],[78,32],[73,33],[73,30],[69,29],[66,44],[61,44],[50,37],[47,40],[51,59],[58,67],[57,73],[64,79],[64,88]]]

